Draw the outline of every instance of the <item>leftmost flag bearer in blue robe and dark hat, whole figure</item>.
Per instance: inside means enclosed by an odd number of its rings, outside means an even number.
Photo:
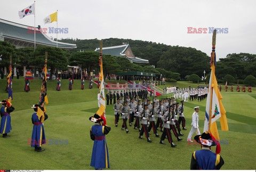
[[[14,107],[6,100],[0,101],[0,104],[2,104],[0,109],[0,133],[3,134],[3,137],[9,137],[10,135],[8,135],[8,133],[12,130],[10,113],[14,110]]]

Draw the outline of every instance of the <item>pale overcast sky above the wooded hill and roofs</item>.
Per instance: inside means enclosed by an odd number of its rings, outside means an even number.
[[[32,0],[1,0],[0,18],[34,26],[34,15],[23,19],[18,15],[18,11],[33,3]],[[209,27],[226,28],[228,33],[217,33],[216,54],[219,59],[230,53],[256,54],[255,7],[255,0],[38,0],[35,15],[36,26],[57,27],[56,22],[44,24],[43,19],[58,10],[58,28],[68,28],[68,33],[58,34],[58,39],[152,41],[193,47],[209,56],[212,48]],[[188,33],[188,27],[197,31],[198,28],[207,28],[207,33]],[[56,34],[47,35],[56,38]]]

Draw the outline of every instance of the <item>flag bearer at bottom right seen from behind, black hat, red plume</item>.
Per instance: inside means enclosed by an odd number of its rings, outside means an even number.
[[[196,135],[194,139],[201,144],[201,150],[192,153],[190,170],[219,170],[224,165],[224,160],[219,155],[218,141],[208,132]],[[211,147],[216,144],[218,145],[214,153]]]

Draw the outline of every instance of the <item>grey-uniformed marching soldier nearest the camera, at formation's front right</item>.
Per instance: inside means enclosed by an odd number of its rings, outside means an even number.
[[[170,107],[170,110],[172,110],[171,107]],[[169,143],[171,143],[171,147],[176,147],[177,145],[173,143],[172,134],[170,131],[170,123],[171,123],[170,119],[171,119],[171,116],[169,114],[169,110],[167,110],[166,113],[162,116],[164,130],[163,130],[163,134],[161,136],[160,144],[165,144],[164,139],[167,136]]]

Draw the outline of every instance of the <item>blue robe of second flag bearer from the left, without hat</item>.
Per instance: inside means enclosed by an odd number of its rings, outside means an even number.
[[[46,143],[44,125],[38,119],[36,113],[32,115],[33,132],[31,137],[31,147],[41,147]]]

